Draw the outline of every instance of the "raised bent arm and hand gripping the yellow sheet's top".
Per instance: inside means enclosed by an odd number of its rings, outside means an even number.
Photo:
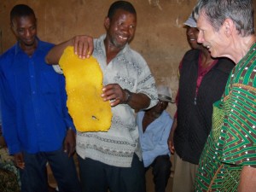
[[[49,50],[49,53],[45,56],[45,62],[49,65],[54,65],[59,63],[61,55],[67,46],[73,46],[76,55],[80,58],[89,58],[93,52],[93,38],[90,36],[76,36],[71,38],[61,44],[55,45]]]

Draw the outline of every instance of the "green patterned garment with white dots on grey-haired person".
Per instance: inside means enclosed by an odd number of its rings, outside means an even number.
[[[256,44],[230,74],[215,102],[212,131],[201,154],[196,191],[237,191],[242,166],[256,167]]]

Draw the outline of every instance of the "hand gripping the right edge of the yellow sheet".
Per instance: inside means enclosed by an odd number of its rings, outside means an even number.
[[[104,101],[111,101],[111,106],[114,107],[119,103],[126,101],[126,93],[119,84],[108,84],[102,89],[102,98]]]

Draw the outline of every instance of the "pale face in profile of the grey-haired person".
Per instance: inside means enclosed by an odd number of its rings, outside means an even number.
[[[203,44],[210,51],[212,57],[224,56],[229,46],[224,35],[224,27],[221,26],[218,32],[214,31],[206,16],[201,14],[197,20],[197,28],[199,29],[197,42]]]

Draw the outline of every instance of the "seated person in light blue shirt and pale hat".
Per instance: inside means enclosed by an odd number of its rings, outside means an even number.
[[[146,171],[153,168],[154,191],[165,192],[172,166],[167,145],[172,118],[166,108],[168,102],[172,102],[172,96],[166,86],[160,85],[157,90],[159,102],[153,108],[137,113],[137,125],[144,166]]]

